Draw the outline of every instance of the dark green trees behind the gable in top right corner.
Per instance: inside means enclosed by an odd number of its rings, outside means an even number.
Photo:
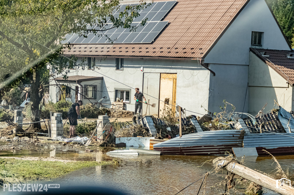
[[[268,0],[268,4],[294,48],[294,0]]]

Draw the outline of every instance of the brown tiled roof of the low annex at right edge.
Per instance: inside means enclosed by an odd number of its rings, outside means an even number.
[[[255,49],[250,48],[250,51],[257,55],[268,66],[272,67],[277,73],[290,83],[294,84],[294,59],[287,58],[287,55],[293,55],[293,50],[273,50],[273,49]],[[264,53],[266,52],[266,53]],[[265,55],[265,57],[263,57]],[[269,57],[267,57],[267,55]]]

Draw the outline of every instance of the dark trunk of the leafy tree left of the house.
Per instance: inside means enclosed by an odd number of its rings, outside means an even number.
[[[33,68],[31,76],[31,122],[40,121],[40,72]],[[41,129],[41,123],[33,123],[30,125],[29,130],[35,131]]]

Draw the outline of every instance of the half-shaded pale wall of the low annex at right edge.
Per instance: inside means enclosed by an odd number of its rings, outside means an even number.
[[[274,100],[285,110],[293,110],[292,86],[252,52],[248,72],[250,114],[257,114],[266,103],[264,113],[270,111],[274,108]]]

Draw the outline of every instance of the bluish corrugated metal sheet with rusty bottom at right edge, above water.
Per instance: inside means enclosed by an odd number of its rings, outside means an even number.
[[[249,134],[244,136],[243,143],[244,148],[255,147],[258,155],[268,155],[262,150],[266,150],[272,155],[294,154],[294,133]]]

